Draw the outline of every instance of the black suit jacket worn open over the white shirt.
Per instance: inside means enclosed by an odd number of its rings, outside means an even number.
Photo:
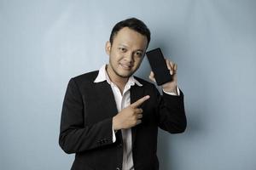
[[[97,82],[98,71],[74,77],[68,82],[61,113],[59,144],[66,153],[75,153],[73,170],[121,169],[123,141],[120,131],[113,143],[112,118],[118,111],[108,82]],[[158,127],[170,133],[186,128],[183,93],[160,95],[154,84],[136,77],[142,87],[131,87],[131,103],[145,95],[141,105],[142,123],[131,128],[135,170],[157,170]]]

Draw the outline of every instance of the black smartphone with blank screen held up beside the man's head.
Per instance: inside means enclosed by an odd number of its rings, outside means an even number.
[[[146,55],[149,61],[149,65],[154,72],[154,78],[157,85],[160,86],[166,82],[171,82],[172,77],[166,65],[166,59],[164,58],[160,48],[150,50],[146,52]]]

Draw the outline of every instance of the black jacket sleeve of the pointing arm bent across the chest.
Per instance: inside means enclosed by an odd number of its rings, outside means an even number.
[[[68,154],[113,144],[112,118],[84,126],[83,103],[78,85],[71,79],[62,105],[59,136],[61,149]]]

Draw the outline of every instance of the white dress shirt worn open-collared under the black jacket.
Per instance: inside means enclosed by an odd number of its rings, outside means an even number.
[[[111,86],[113,91],[113,96],[115,99],[115,103],[117,106],[118,111],[122,111],[128,105],[131,105],[131,98],[130,98],[130,88],[137,84],[137,86],[143,86],[140,82],[138,82],[133,76],[129,77],[128,82],[125,84],[125,88],[123,94],[121,94],[119,88],[110,81],[108,77],[108,73],[106,71],[106,65],[102,65],[101,69],[99,70],[98,76],[96,77],[94,82],[103,82],[107,81],[108,84]],[[171,95],[176,95],[174,93],[167,93]],[[179,89],[177,88],[177,94],[179,95]],[[123,137],[123,170],[134,170],[133,167],[133,159],[132,159],[132,142],[131,142],[131,128],[128,129],[121,129],[122,137]],[[115,133],[113,132],[113,143],[116,141]]]

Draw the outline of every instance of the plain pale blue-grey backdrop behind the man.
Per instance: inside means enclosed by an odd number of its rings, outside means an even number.
[[[256,168],[253,0],[0,0],[0,169],[70,169],[58,145],[71,77],[108,62],[113,25],[137,17],[178,65],[185,133],[159,133],[161,170]],[[148,60],[136,75],[148,80]],[[99,160],[100,161],[100,160]]]

